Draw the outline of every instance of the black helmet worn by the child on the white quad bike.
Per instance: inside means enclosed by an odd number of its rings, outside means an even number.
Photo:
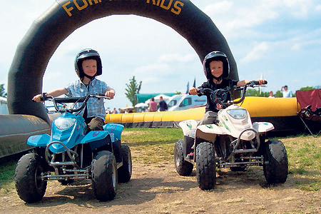
[[[210,72],[210,62],[211,61],[222,61],[223,62],[223,74],[219,78],[215,78]],[[203,68],[205,76],[208,80],[217,79],[220,81],[221,78],[228,78],[230,76],[230,63],[228,63],[228,57],[220,51],[213,51],[206,55],[203,61]]]

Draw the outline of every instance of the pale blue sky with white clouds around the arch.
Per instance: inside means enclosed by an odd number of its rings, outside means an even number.
[[[240,80],[263,76],[268,82],[264,90],[274,93],[284,85],[293,92],[321,86],[321,1],[192,2],[225,37]],[[5,89],[17,46],[52,4],[54,0],[1,2],[0,83]],[[196,86],[206,81],[198,55],[176,31],[153,19],[114,15],[91,21],[58,46],[44,74],[43,92],[76,81],[73,62],[86,48],[99,52],[103,75],[98,78],[116,91],[106,108],[131,106],[125,89],[133,76],[142,81],[140,93],[185,93],[194,78]]]

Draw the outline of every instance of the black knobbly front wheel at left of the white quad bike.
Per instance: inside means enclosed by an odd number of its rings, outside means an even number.
[[[216,183],[216,162],[213,143],[200,143],[196,147],[196,177],[202,190],[213,189]]]

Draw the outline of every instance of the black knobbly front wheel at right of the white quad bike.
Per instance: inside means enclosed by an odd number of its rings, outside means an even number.
[[[287,151],[282,141],[265,143],[263,171],[267,183],[285,183],[288,174]]]

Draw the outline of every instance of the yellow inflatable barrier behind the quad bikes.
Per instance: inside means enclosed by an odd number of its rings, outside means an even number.
[[[300,111],[300,106],[296,98],[246,97],[239,105],[248,110],[253,122],[270,122],[275,131],[290,131],[298,124],[297,111]],[[180,121],[200,121],[204,113],[205,106],[183,111],[118,113],[107,115],[106,123],[122,123],[126,128],[178,127]]]

